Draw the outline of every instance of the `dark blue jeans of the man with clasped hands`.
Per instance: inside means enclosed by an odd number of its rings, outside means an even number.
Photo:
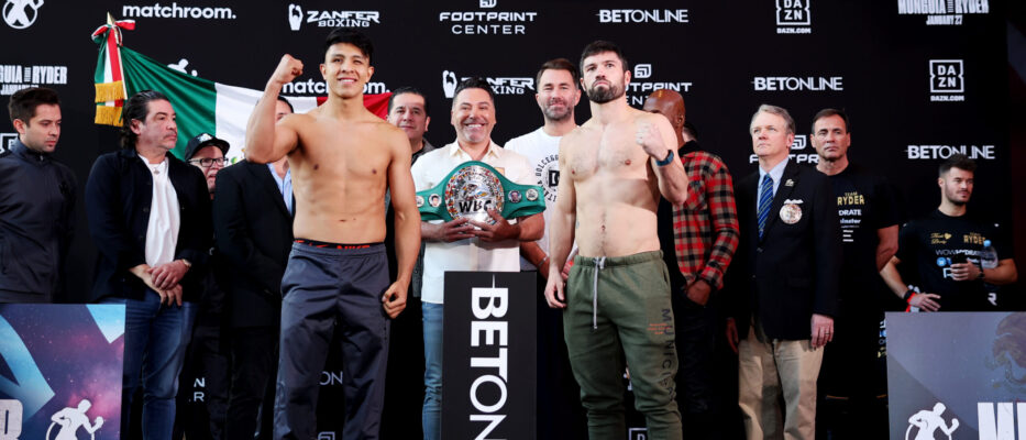
[[[143,438],[170,440],[178,373],[192,334],[196,307],[192,302],[163,306],[161,297],[151,289],[146,289],[143,299],[111,298],[104,302],[124,304],[121,435],[130,435],[132,396],[142,383]]]

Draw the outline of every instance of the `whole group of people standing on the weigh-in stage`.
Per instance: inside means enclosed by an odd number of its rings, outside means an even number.
[[[849,162],[841,110],[810,121],[810,167],[790,158],[787,110],[760,106],[749,130],[758,170],[735,179],[699,146],[680,94],[628,105],[631,70],[610,42],[588,44],[577,65],[542,64],[544,123],[505,146],[492,139],[485,79],[457,85],[456,136],[437,147],[416,88],[391,92],[387,120],[364,107],[372,61],[365,35],[333,31],[319,66],[328,99],[294,113],[279,92],[305,66],[285,55],[250,117],[245,160],[231,166],[225,154],[243,145],[209,133],[186,133],[184,154],[170,153],[185,103],[157,90],[125,100],[121,148],[96,160],[85,186],[99,251],[91,299],[125,306],[123,435],[141,418],[144,438],[172,437],[191,352],[213,438],[312,439],[337,343],[342,438],[378,438],[394,405],[386,372],[420,362],[423,438],[446,438],[443,274],[523,271],[537,274],[538,384],[549,396],[538,438],[625,438],[625,376],[649,439],[726,438],[719,421],[733,410],[749,439],[886,438],[885,382],[865,372],[880,371],[889,301],[988,310],[993,286],[1017,279],[1007,234],[967,212],[972,161],[945,161],[939,207],[906,223],[886,179]],[[582,91],[591,118],[577,124]],[[18,91],[9,109],[19,138],[0,158],[0,301],[48,302],[78,183],[52,157],[56,92]],[[421,221],[416,193],[468,161],[540,186],[547,209]],[[411,334],[422,336],[422,359],[389,353]],[[736,398],[716,380],[717,341],[737,353]],[[397,355],[416,363],[389,365]],[[139,388],[141,416],[131,414]]]

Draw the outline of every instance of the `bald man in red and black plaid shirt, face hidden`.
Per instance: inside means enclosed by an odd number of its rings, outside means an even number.
[[[714,405],[713,355],[716,311],[709,297],[724,284],[724,272],[738,246],[733,182],[719,156],[698,146],[685,124],[684,98],[673,90],[649,95],[644,111],[670,120],[689,185],[684,205],[659,204],[659,241],[670,267],[676,320],[677,406],[688,438],[719,438]],[[675,268],[675,270],[674,270]]]

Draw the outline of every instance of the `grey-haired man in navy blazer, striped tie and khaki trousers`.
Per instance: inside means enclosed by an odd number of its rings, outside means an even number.
[[[738,404],[749,439],[812,440],[816,380],[823,346],[832,339],[841,264],[834,188],[827,176],[788,161],[794,120],[787,110],[759,107],[750,134],[759,172],[735,188],[741,243],[727,286],[735,307],[727,332],[738,352]]]

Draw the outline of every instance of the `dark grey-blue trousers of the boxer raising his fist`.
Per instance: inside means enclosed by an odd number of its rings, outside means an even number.
[[[296,243],[282,279],[275,439],[317,437],[317,397],[335,327],[342,349],[342,439],[377,439],[388,366],[384,244],[360,249]]]

